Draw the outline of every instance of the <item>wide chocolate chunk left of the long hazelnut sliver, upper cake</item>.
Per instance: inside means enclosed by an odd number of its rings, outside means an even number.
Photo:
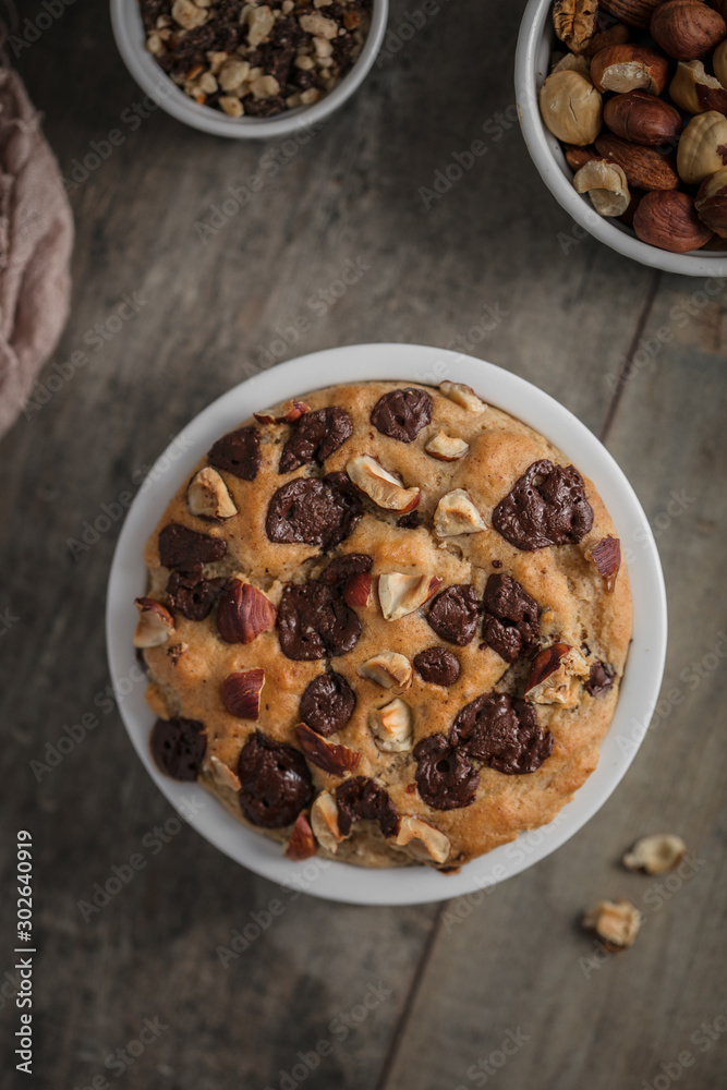
[[[298,477],[272,496],[265,530],[271,542],[340,545],[359,522],[363,509],[346,473]]]

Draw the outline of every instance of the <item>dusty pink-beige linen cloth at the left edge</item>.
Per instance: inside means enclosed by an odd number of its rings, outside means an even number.
[[[0,436],[69,312],[73,215],[23,81],[0,68]]]

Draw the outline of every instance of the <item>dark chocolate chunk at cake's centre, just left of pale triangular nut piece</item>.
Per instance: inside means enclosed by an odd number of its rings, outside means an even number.
[[[361,635],[361,621],[339,586],[317,580],[289,583],[278,608],[278,635],[283,655],[310,662],[351,651]]]

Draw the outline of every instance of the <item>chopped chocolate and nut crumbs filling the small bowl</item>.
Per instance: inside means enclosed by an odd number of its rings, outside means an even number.
[[[140,0],[146,48],[186,95],[231,118],[311,106],[350,71],[372,0]]]

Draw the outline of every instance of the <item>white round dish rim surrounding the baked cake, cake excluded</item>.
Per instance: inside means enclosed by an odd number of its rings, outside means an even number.
[[[143,548],[161,512],[193,467],[225,432],[253,411],[340,382],[401,379],[468,383],[485,400],[519,416],[556,443],[596,485],[616,523],[633,595],[633,641],[616,715],[593,775],[555,822],[521,835],[457,874],[426,867],[363,870],[344,863],[294,863],[271,843],[237,822],[213,796],[178,784],[156,768],[148,749],[154,715],[144,701],[144,678],[134,664],[134,597],[144,594]],[[483,896],[495,882],[549,855],[603,806],[629,767],[646,732],[664,669],[666,596],[658,553],[633,489],[598,439],[567,409],[535,386],[492,363],[444,349],[411,344],[358,344],[330,349],[265,371],[199,413],[160,457],[132,504],[117,545],[107,600],[109,665],[121,716],[147,772],[168,800],[211,844],[258,874],[331,900],[361,905],[414,905],[462,894]],[[194,800],[191,804],[190,800]],[[204,806],[196,809],[196,803]]]

